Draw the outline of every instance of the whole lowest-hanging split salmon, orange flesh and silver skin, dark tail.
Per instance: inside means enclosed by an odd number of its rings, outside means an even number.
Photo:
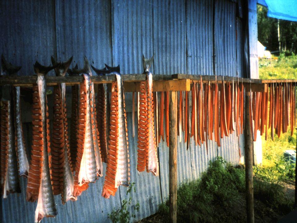
[[[37,201],[35,222],[43,217],[57,215],[51,183],[51,149],[49,139],[49,118],[46,98],[47,72],[55,68],[45,67],[37,61],[34,71],[37,74],[37,85],[33,86],[32,110],[32,155],[28,173],[27,200]]]

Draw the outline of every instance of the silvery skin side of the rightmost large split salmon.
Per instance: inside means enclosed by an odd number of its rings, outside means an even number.
[[[148,80],[149,80],[149,91],[148,91],[148,102],[151,104],[151,109],[153,108],[152,105],[152,93],[153,93],[153,75],[151,72],[148,73]],[[149,111],[148,111],[149,112]],[[151,111],[153,114],[153,111]],[[155,127],[154,127],[154,120],[148,120],[149,122],[149,151],[148,151],[148,168],[149,171],[152,172],[155,176],[159,175],[159,162],[157,158],[157,146],[155,141]]]

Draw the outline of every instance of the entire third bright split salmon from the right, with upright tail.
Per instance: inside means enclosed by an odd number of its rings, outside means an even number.
[[[77,156],[75,164],[74,192],[75,197],[88,189],[88,183],[101,177],[103,165],[100,155],[100,140],[97,129],[95,91],[91,81],[91,68],[84,57],[84,68],[77,71],[84,80],[80,84],[79,120],[77,131]]]

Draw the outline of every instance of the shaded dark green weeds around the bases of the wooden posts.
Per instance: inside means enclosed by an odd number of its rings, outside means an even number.
[[[293,200],[284,187],[254,177],[256,222],[275,222],[290,212]],[[153,219],[153,221],[151,220]],[[168,201],[141,222],[168,222]],[[210,162],[200,180],[183,184],[177,193],[177,222],[245,222],[245,171],[222,158]]]

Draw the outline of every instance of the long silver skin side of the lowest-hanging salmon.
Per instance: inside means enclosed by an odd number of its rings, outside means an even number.
[[[39,195],[37,208],[35,210],[35,222],[41,221],[43,217],[54,217],[57,210],[54,203],[53,189],[51,185],[49,172],[49,156],[47,150],[47,121],[46,121],[46,81],[43,75],[37,77],[38,93],[41,103],[42,115],[42,133],[43,133],[43,166],[41,174],[41,184],[39,187]]]

